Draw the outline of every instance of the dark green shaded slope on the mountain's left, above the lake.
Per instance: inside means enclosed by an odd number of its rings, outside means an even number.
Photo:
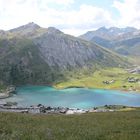
[[[0,80],[5,84],[51,84],[59,79],[60,73],[48,66],[29,39],[1,40],[0,50]]]

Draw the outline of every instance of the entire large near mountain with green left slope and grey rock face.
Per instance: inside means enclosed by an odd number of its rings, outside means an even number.
[[[119,55],[54,27],[29,23],[0,34],[0,81],[8,84],[52,84],[67,71],[125,66]]]

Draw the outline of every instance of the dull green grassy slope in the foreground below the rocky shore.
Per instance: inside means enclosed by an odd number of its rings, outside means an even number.
[[[1,140],[139,140],[140,110],[83,115],[0,113]]]

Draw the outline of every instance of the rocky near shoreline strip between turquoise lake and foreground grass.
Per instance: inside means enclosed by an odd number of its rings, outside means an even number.
[[[28,107],[18,106],[15,102],[0,102],[0,112],[16,112],[27,114],[58,114],[58,115],[73,115],[85,114],[92,112],[115,112],[115,111],[130,111],[139,107],[129,107],[123,105],[104,105],[99,107],[92,107],[90,109],[68,108],[68,107],[51,107],[42,104],[32,105]]]

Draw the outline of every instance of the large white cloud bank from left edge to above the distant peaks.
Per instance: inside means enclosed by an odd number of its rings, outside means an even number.
[[[43,27],[55,26],[62,31],[80,35],[100,26],[111,26],[114,21],[109,11],[91,5],[81,5],[78,10],[67,10],[75,0],[0,0],[0,28],[10,29],[28,22]],[[49,7],[55,4],[60,8]]]

